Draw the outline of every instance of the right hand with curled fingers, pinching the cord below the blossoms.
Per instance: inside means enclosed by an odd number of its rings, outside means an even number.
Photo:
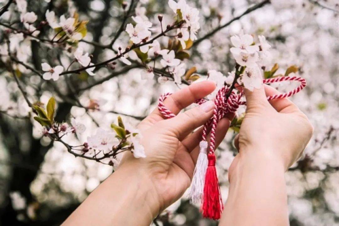
[[[266,93],[266,95],[265,95]],[[245,89],[247,108],[235,146],[239,150],[230,167],[230,177],[243,156],[274,161],[287,170],[302,154],[313,127],[300,109],[288,99],[267,101],[266,96],[279,94],[264,85],[253,92]]]

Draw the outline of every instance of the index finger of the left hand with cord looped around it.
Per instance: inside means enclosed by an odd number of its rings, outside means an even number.
[[[193,83],[183,89],[178,90],[171,96],[168,96],[164,100],[164,105],[177,115],[180,110],[191,105],[200,98],[207,96],[212,93],[216,88],[215,82],[213,81],[202,81]],[[142,120],[139,124],[140,129],[145,129],[155,122],[163,120],[164,116],[161,114],[158,108],[154,109],[153,112]]]

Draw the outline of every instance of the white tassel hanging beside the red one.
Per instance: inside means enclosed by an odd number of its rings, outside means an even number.
[[[191,199],[191,203],[201,204],[201,197],[204,191],[205,174],[207,170],[207,141],[200,141],[200,152],[197,159],[197,164],[194,169],[193,180],[191,184],[191,191],[188,197]]]

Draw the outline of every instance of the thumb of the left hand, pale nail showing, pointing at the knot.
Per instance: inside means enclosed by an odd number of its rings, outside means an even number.
[[[182,140],[195,128],[205,124],[213,115],[214,102],[207,101],[197,107],[184,111],[164,123],[173,129],[177,138]]]

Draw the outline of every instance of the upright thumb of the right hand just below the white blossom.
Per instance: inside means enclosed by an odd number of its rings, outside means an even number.
[[[244,95],[246,97],[246,111],[251,112],[253,109],[270,106],[268,103],[264,86],[260,88],[254,88],[253,91],[244,88]]]

